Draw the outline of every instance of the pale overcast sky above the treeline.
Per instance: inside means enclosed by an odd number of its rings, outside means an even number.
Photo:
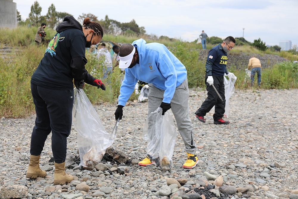
[[[13,0],[22,19],[30,13],[35,0]],[[58,12],[76,19],[91,13],[98,19],[108,15],[119,22],[132,19],[144,26],[147,34],[194,41],[202,30],[210,36],[242,37],[253,42],[261,38],[266,45],[281,40],[298,44],[297,0],[38,0],[46,15],[53,3]],[[103,38],[104,39],[104,38]]]

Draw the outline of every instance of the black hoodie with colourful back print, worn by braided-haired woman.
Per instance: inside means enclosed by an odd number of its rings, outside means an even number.
[[[73,89],[73,79],[91,84],[95,78],[85,69],[86,37],[82,26],[73,16],[65,16],[56,31],[31,83],[58,90]]]

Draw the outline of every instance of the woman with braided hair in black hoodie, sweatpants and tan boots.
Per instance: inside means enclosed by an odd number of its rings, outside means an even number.
[[[46,176],[46,172],[39,168],[39,159],[46,138],[52,132],[54,185],[70,183],[74,179],[65,173],[66,138],[72,125],[73,85],[79,89],[87,83],[105,90],[105,85],[85,69],[85,47],[101,41],[103,29],[100,24],[85,18],[82,27],[73,16],[65,16],[56,31],[31,78],[36,119],[26,174],[26,178]]]

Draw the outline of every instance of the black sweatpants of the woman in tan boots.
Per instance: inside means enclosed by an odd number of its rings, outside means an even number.
[[[31,155],[40,155],[52,131],[52,152],[56,163],[66,159],[66,138],[72,125],[74,91],[47,89],[31,84],[36,119],[31,135]]]

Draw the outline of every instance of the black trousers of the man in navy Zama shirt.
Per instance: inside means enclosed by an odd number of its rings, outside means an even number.
[[[205,84],[206,84],[208,97],[205,99],[201,107],[195,112],[195,114],[199,116],[205,116],[206,113],[209,112],[213,106],[215,106],[213,120],[216,121],[224,116],[226,98],[224,96],[224,76],[212,75],[212,77],[213,77],[213,85],[224,101],[221,101],[221,98],[218,97],[214,88],[207,83],[208,76],[206,75]]]

